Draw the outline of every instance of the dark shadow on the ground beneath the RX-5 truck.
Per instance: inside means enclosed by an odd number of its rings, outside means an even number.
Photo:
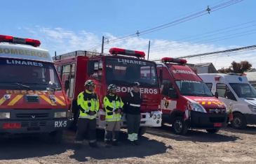
[[[72,142],[65,138],[61,144],[54,144],[49,140],[48,135],[41,135],[40,137],[1,138],[0,161],[62,154],[67,149],[73,148]]]

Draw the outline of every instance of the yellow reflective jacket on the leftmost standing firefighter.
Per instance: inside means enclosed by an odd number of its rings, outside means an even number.
[[[97,111],[99,110],[99,98],[97,94],[90,91],[83,91],[77,98],[77,105],[79,106],[80,116],[79,118],[95,119]],[[94,115],[90,116],[90,112],[95,112]]]

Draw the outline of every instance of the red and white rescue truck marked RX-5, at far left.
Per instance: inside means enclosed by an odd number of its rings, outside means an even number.
[[[53,60],[40,44],[0,35],[0,133],[49,133],[60,142],[72,120]]]

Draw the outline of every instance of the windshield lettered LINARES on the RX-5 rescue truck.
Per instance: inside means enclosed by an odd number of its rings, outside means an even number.
[[[0,59],[0,89],[62,90],[53,64]]]

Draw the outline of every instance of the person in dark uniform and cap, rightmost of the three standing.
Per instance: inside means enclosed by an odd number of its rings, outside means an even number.
[[[133,83],[133,91],[128,92],[124,99],[128,129],[128,140],[133,145],[138,145],[137,133],[140,130],[140,105],[142,104],[142,94],[140,92],[140,83]]]

